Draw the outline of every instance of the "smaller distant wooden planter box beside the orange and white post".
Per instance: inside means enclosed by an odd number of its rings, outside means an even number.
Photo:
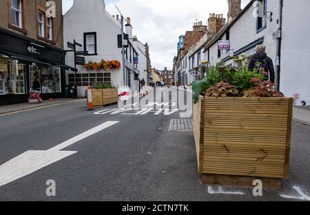
[[[92,105],[104,106],[118,102],[118,89],[92,89]],[[88,100],[87,100],[88,103]]]

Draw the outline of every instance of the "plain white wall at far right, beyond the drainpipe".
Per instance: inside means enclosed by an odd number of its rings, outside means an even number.
[[[280,91],[310,105],[310,1],[283,2]]]

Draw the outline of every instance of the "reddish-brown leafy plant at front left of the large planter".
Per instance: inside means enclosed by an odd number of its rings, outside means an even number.
[[[214,87],[211,87],[207,90],[205,94],[207,97],[216,97],[216,98],[226,98],[226,97],[236,97],[238,96],[239,91],[235,86],[232,86],[226,82],[220,82],[215,84]]]

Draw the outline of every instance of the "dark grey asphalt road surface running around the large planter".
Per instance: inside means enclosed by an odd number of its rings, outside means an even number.
[[[193,133],[169,131],[178,113],[94,115],[96,111],[74,103],[0,116],[0,165],[28,150],[48,150],[104,122],[118,122],[64,149],[74,155],[1,186],[0,201],[294,201],[280,196],[298,198],[294,186],[310,196],[310,126],[293,124],[291,177],[282,190],[264,190],[260,197],[244,188],[223,188],[244,194],[210,194],[198,175]],[[49,179],[56,182],[56,196],[45,194]]]

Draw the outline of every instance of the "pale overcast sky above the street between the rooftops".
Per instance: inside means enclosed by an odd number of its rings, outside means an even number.
[[[250,0],[242,0],[242,8]],[[63,13],[73,0],[63,0]],[[107,11],[116,14],[117,5],[132,20],[133,34],[148,43],[152,67],[172,69],[178,36],[192,30],[194,22],[207,24],[210,13],[227,17],[227,0],[105,0]]]

